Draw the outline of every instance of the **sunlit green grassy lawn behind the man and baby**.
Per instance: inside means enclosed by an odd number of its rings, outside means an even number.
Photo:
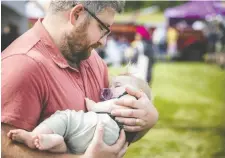
[[[125,158],[225,158],[225,71],[203,63],[158,63],[152,90],[159,121]]]

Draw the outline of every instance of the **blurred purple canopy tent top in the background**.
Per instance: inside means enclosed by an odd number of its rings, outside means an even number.
[[[225,16],[225,3],[222,1],[189,1],[183,5],[166,9],[164,14],[170,24],[181,20],[192,24],[196,20],[205,19],[206,16],[218,14]]]

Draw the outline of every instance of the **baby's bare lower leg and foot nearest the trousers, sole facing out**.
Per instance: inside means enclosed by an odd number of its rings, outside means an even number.
[[[34,138],[34,145],[39,150],[64,153],[67,146],[64,138],[58,134],[39,134]]]

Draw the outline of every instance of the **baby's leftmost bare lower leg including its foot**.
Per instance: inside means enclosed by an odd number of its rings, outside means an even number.
[[[23,129],[10,130],[7,136],[19,143],[24,143],[30,148],[35,148],[34,139],[38,134],[51,134],[53,133],[45,124],[38,125],[32,132]]]

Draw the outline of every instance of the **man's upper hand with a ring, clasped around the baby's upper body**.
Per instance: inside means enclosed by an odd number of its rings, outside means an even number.
[[[129,95],[137,99],[121,98],[115,103],[128,109],[114,109],[111,114],[116,120],[125,124],[124,129],[129,132],[146,131],[152,128],[158,120],[158,112],[147,95],[142,91],[126,88]],[[131,109],[132,108],[132,109]]]

